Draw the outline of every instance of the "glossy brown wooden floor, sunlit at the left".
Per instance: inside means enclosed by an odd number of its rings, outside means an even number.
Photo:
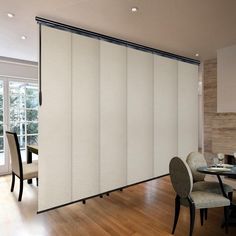
[[[9,191],[10,181],[10,176],[0,177],[1,236],[171,235],[175,195],[168,176],[90,199],[85,205],[77,203],[41,214],[36,214],[37,187],[25,183],[19,203],[18,181],[14,193]],[[201,226],[197,211],[194,236],[225,235],[220,227],[222,216],[222,208],[210,209]],[[175,235],[187,236],[188,227],[188,209],[181,208]],[[228,235],[236,235],[236,227],[230,228]]]

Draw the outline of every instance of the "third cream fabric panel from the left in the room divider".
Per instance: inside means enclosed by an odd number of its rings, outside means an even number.
[[[101,41],[101,192],[126,185],[126,47]]]

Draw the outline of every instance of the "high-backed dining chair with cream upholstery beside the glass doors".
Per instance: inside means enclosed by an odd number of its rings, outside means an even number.
[[[33,162],[30,164],[22,163],[20,146],[17,138],[17,134],[13,132],[6,131],[8,146],[11,156],[11,167],[12,167],[12,183],[11,192],[14,190],[15,186],[15,176],[20,179],[20,190],[18,201],[21,201],[23,194],[23,181],[27,179],[36,178],[38,185],[38,164]]]

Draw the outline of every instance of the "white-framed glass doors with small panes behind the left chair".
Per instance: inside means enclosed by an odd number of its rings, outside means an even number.
[[[38,142],[38,85],[34,81],[0,80],[0,175],[9,173],[5,131],[16,132],[22,161],[26,148]]]

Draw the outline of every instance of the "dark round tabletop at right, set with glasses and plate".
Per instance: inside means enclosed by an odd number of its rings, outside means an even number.
[[[227,170],[226,170],[227,169]],[[199,172],[210,175],[225,175],[225,176],[236,176],[236,165],[232,168],[220,168],[220,167],[199,167],[197,169]]]

